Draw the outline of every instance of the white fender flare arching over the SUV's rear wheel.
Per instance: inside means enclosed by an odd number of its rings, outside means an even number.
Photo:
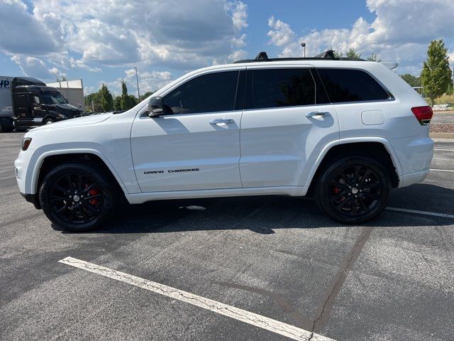
[[[391,156],[391,160],[394,165],[394,168],[396,168],[397,178],[399,178],[399,183],[400,183],[402,180],[402,166],[400,164],[399,158],[397,157],[397,153],[394,150],[394,147],[387,139],[384,139],[382,137],[350,137],[347,139],[331,141],[329,144],[327,144],[323,148],[319,157],[316,159],[314,166],[312,166],[312,168],[311,168],[311,172],[309,173],[309,176],[306,179],[304,188],[306,190],[309,189],[309,185],[311,185],[312,180],[314,180],[314,175],[315,175],[316,171],[319,169],[319,166],[320,166],[321,162],[323,161],[323,158],[325,158],[326,154],[328,153],[328,151],[330,151],[331,148],[333,148],[333,146],[338,146],[341,144],[358,144],[361,142],[377,142],[384,146],[384,148],[387,150],[387,152]]]

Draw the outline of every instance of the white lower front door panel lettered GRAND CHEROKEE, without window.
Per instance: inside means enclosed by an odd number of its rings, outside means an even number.
[[[131,132],[143,192],[241,188],[240,111],[138,117]],[[211,124],[215,119],[233,123]]]

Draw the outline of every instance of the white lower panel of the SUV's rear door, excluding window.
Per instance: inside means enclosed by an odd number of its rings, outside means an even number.
[[[311,112],[330,116],[306,117]],[[331,104],[247,110],[241,121],[243,186],[302,186],[323,147],[338,139],[338,118]]]

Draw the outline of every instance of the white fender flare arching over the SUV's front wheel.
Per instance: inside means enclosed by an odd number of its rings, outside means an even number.
[[[129,194],[128,190],[126,189],[125,184],[123,183],[123,180],[121,180],[120,175],[116,173],[114,166],[111,165],[109,160],[104,156],[103,153],[96,151],[95,149],[90,149],[90,148],[82,148],[82,149],[60,149],[60,150],[55,150],[55,151],[46,151],[45,153],[40,154],[36,161],[34,162],[33,169],[31,169],[31,182],[26,183],[26,193],[38,193],[38,178],[40,175],[40,170],[41,166],[43,166],[44,159],[47,158],[48,156],[55,156],[55,155],[63,155],[63,154],[80,154],[80,153],[86,153],[86,154],[94,154],[101,158],[101,161],[104,162],[104,164],[109,168],[109,171],[111,171],[112,175],[114,175],[114,178],[116,179],[118,185],[120,185],[121,190],[123,190],[123,193],[126,195]],[[30,162],[32,162],[33,157]],[[29,168],[30,169],[30,168]],[[29,178],[27,176],[27,178]],[[30,186],[30,187],[28,187]]]

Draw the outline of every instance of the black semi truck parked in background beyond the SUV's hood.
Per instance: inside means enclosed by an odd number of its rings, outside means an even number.
[[[0,132],[25,131],[87,114],[67,104],[55,87],[31,77],[0,76]]]

